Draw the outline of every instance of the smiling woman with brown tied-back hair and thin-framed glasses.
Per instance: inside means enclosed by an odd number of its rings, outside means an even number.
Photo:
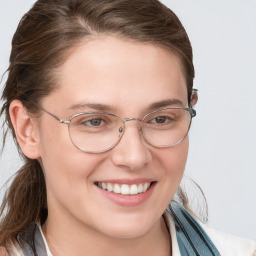
[[[160,2],[39,0],[8,72],[2,113],[25,164],[2,255],[255,255],[185,209],[192,49]]]

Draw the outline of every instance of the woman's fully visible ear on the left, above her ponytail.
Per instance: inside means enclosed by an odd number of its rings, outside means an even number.
[[[11,102],[9,113],[17,141],[23,154],[31,159],[40,158],[40,152],[38,150],[38,123],[36,120],[27,114],[19,100]]]

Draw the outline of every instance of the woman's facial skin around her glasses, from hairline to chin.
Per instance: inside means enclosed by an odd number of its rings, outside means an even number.
[[[152,44],[114,37],[86,42],[72,51],[58,76],[59,88],[42,106],[63,120],[105,108],[121,118],[141,118],[161,107],[187,107],[178,58]],[[153,104],[157,107],[152,109]],[[38,149],[48,220],[116,238],[136,238],[159,225],[183,176],[188,138],[174,147],[155,148],[143,140],[139,124],[127,122],[116,147],[91,154],[74,147],[67,124],[42,113]],[[98,182],[120,188],[153,185],[145,193],[121,195],[98,187]]]

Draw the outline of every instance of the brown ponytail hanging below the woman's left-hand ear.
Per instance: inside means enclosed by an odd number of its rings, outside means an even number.
[[[26,159],[16,173],[0,207],[0,246],[14,242],[31,222],[47,218],[44,174],[37,160]]]

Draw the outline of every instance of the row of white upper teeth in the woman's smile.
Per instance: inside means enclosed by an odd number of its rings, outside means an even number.
[[[113,183],[104,183],[104,182],[98,182],[98,187],[107,190],[109,192],[114,192],[116,194],[122,194],[122,195],[137,195],[140,193],[144,193],[148,190],[150,187],[150,182],[145,182],[141,184],[113,184]]]

